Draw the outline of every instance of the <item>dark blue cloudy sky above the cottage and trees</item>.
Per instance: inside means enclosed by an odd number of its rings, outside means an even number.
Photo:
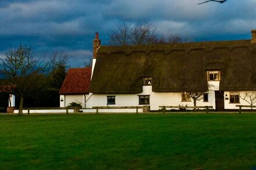
[[[256,29],[256,0],[1,0],[0,57],[20,44],[37,56],[65,51],[70,67],[92,57],[92,41],[102,44],[118,23],[147,20],[159,34],[178,34],[189,41],[250,39]]]

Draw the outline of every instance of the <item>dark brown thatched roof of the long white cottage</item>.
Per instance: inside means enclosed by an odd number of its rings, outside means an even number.
[[[207,91],[207,70],[221,70],[222,91],[256,90],[256,45],[250,40],[168,45],[101,46],[90,92]]]

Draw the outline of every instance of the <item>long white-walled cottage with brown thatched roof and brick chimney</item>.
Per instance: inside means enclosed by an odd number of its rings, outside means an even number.
[[[241,97],[256,91],[255,30],[252,35],[238,41],[101,46],[96,33],[84,106],[193,106],[192,92],[204,92],[197,106],[218,111],[248,105]]]

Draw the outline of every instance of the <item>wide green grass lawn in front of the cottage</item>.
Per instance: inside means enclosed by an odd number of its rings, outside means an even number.
[[[256,114],[0,116],[0,169],[251,169]]]

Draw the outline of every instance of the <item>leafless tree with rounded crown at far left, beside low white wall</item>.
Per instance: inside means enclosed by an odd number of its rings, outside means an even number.
[[[35,58],[32,49],[24,46],[10,49],[5,58],[0,59],[0,74],[20,99],[19,114],[22,114],[24,97],[44,86],[44,70],[44,64]]]

